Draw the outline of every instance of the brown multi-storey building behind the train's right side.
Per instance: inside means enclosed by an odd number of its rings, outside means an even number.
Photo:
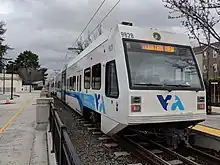
[[[220,43],[212,44],[220,47]],[[199,61],[201,72],[204,79],[214,79],[220,77],[220,54],[208,46],[194,48],[197,61]]]

